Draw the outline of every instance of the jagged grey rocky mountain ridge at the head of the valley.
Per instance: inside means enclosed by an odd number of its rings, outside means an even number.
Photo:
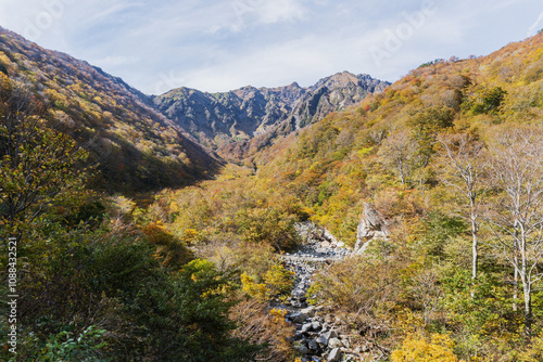
[[[368,75],[343,72],[308,88],[295,82],[279,88],[244,87],[225,93],[179,88],[154,96],[153,102],[202,144],[228,150],[260,134],[277,133],[278,128],[280,133],[300,129],[389,85]]]

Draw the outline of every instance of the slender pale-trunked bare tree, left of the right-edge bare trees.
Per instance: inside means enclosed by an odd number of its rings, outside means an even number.
[[[484,145],[472,135],[440,134],[438,142],[442,146],[441,160],[445,165],[443,182],[458,193],[467,203],[467,210],[462,216],[471,224],[471,279],[477,279],[479,262],[479,217],[484,186],[482,176],[485,172],[483,161]],[[473,292],[471,292],[473,298]]]

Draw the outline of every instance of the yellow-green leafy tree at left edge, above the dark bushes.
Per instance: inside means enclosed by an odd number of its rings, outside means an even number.
[[[51,129],[45,109],[17,82],[0,83],[0,222],[21,232],[53,207],[77,207],[88,153]]]

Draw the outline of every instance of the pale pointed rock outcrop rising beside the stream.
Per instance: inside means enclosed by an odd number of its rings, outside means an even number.
[[[389,223],[370,203],[364,203],[364,212],[356,231],[354,251],[364,253],[369,243],[376,238],[389,237]]]

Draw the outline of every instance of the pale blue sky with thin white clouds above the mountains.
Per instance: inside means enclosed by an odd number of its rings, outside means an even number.
[[[147,94],[218,92],[343,70],[395,81],[535,35],[543,1],[0,0],[0,26]]]

